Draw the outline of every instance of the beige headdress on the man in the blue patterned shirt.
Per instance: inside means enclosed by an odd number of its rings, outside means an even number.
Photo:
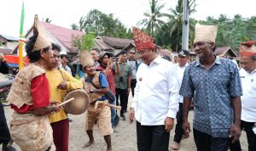
[[[213,42],[217,36],[218,25],[195,25],[195,42]]]

